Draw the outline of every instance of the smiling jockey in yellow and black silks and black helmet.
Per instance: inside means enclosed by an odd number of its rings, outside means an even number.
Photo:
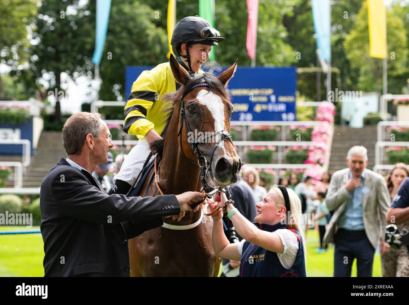
[[[199,16],[189,16],[180,20],[171,39],[176,59],[190,74],[204,73],[200,67],[209,59],[213,45],[225,40],[211,27],[207,20]],[[138,143],[129,152],[114,177],[114,185],[108,194],[126,194],[135,182],[142,166],[151,151],[154,141],[160,136],[164,126],[166,105],[162,96],[175,92],[180,87],[175,82],[169,62],[161,63],[150,71],[144,71],[132,85],[131,93],[124,110],[124,132],[136,135]],[[152,157],[153,158],[153,157]],[[229,227],[229,240],[236,240],[234,228]],[[237,240],[238,241],[238,240]]]

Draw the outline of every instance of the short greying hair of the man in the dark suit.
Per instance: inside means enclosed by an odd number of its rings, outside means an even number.
[[[67,155],[79,155],[88,134],[101,136],[101,114],[78,112],[67,119],[63,127],[63,146]]]

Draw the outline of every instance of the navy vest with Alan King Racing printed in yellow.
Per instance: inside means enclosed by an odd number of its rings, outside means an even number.
[[[253,224],[258,227],[258,229],[267,232],[274,232],[278,229],[288,229],[285,224],[281,223],[270,225],[253,222]],[[240,260],[240,276],[307,276],[301,234],[295,230],[294,232],[298,235],[298,253],[294,264],[290,269],[286,269],[281,265],[277,253],[268,251],[246,241],[243,244]]]

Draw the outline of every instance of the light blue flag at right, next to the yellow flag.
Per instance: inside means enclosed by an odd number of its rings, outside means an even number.
[[[319,53],[328,63],[331,60],[331,13],[329,0],[312,0],[312,19]]]

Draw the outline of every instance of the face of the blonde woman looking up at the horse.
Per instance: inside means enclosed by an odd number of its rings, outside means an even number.
[[[259,224],[276,224],[281,221],[282,214],[285,214],[285,207],[276,206],[277,193],[270,191],[265,195],[263,201],[256,204],[257,216],[254,221]]]

